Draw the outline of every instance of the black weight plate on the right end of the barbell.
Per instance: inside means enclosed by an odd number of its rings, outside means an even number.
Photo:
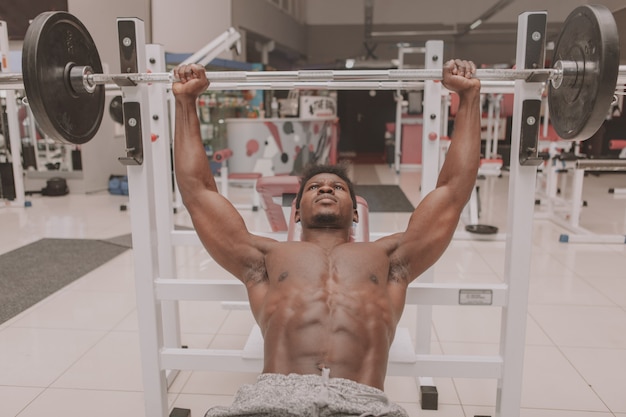
[[[601,5],[584,5],[563,24],[552,63],[578,62],[575,77],[559,88],[548,86],[550,118],[559,137],[585,140],[607,117],[619,73],[619,36],[613,14]]]

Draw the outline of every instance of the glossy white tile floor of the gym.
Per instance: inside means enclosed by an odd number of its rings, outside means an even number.
[[[419,200],[418,171],[396,176],[384,165],[357,165],[354,178],[362,184],[399,184],[413,202]],[[481,184],[481,222],[505,232],[508,178],[490,177]],[[581,225],[594,233],[624,235],[626,199],[608,194],[609,187],[626,187],[626,176],[585,178],[588,206]],[[45,237],[130,233],[129,213],[119,210],[125,197],[103,192],[31,201],[30,208],[0,209],[0,253]],[[262,211],[242,214],[251,229],[269,230]],[[406,213],[371,213],[370,230],[399,230],[407,218]],[[176,215],[176,224],[189,224],[185,213]],[[535,219],[532,227],[520,415],[626,417],[626,245],[559,243],[564,230],[553,222]],[[501,281],[504,247],[502,241],[454,240],[435,266],[435,280]],[[0,324],[0,417],[145,416],[132,256],[132,250],[123,253]],[[180,277],[223,274],[198,247],[177,248],[176,260]],[[414,315],[407,307],[401,325],[414,328]],[[191,347],[241,348],[253,325],[249,312],[214,303],[181,303],[181,317],[182,341]],[[499,322],[495,307],[434,307],[433,352],[497,354]],[[230,403],[237,387],[254,378],[181,372],[169,404],[202,416],[211,405]],[[412,378],[388,377],[386,391],[411,416],[494,415],[495,380],[435,382],[437,411],[419,409]]]

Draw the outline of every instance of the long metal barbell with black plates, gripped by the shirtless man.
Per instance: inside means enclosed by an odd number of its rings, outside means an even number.
[[[543,40],[541,40],[543,41]],[[481,80],[545,82],[552,124],[559,137],[584,140],[604,122],[613,102],[619,36],[612,13],[584,5],[570,13],[555,46],[552,68],[478,69]],[[172,73],[104,74],[85,26],[66,12],[38,15],[26,32],[23,74],[0,74],[0,88],[23,85],[36,121],[48,136],[82,144],[97,133],[104,115],[105,86],[173,83]],[[211,71],[209,89],[415,89],[440,80],[441,70]]]

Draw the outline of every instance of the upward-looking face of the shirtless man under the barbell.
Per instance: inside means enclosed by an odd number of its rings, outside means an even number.
[[[334,174],[318,174],[304,184],[296,221],[303,227],[350,227],[358,221],[348,184]]]

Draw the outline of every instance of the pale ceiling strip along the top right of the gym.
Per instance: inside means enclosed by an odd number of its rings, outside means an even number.
[[[310,25],[363,24],[366,0],[306,0]],[[372,0],[373,24],[470,24],[498,0]],[[495,13],[489,23],[517,24],[526,11],[546,10],[548,22],[562,23],[577,6],[602,4],[612,12],[626,7],[625,0],[514,0]]]

